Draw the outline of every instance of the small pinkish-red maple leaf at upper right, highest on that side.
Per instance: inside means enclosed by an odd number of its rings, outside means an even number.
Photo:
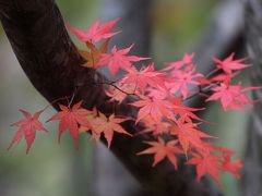
[[[231,53],[225,60],[213,59],[215,63],[217,63],[217,69],[222,69],[227,74],[231,74],[235,70],[242,70],[249,68],[250,64],[242,63],[247,58],[234,60],[235,53]]]

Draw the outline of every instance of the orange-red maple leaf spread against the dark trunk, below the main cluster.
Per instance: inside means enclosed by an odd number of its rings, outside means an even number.
[[[177,169],[177,158],[175,155],[182,154],[182,150],[176,146],[177,140],[164,142],[163,138],[158,137],[157,142],[144,142],[152,147],[139,152],[138,155],[151,155],[155,154],[153,167],[164,160],[166,157],[172,163],[175,169]]]

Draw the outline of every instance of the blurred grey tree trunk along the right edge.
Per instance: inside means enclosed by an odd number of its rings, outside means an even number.
[[[247,48],[252,61],[251,81],[262,86],[262,1],[247,0],[246,4]],[[253,93],[254,99],[262,99],[261,90]],[[245,159],[243,195],[262,193],[262,105],[258,102],[248,127],[248,145]]]

